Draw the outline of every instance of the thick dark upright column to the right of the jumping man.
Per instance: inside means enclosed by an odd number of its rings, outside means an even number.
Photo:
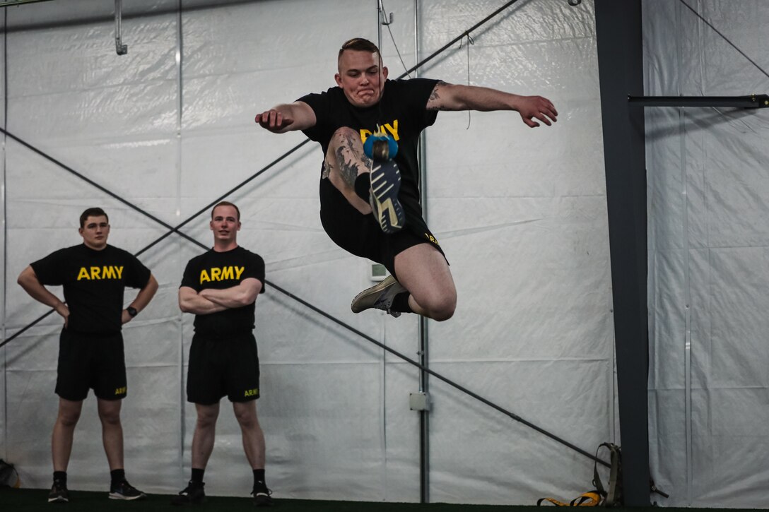
[[[649,507],[648,329],[641,0],[596,0],[624,504]]]

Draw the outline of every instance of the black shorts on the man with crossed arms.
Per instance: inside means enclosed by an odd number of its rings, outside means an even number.
[[[187,401],[218,404],[259,397],[259,354],[254,334],[215,338],[195,333],[187,371]]]

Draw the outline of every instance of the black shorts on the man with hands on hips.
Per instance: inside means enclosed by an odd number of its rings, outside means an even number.
[[[56,394],[71,401],[88,397],[88,389],[102,400],[120,400],[128,393],[123,336],[78,334],[62,329],[58,341]]]

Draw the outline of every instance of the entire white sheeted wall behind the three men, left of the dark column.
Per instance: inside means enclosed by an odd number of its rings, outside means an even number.
[[[378,38],[375,0],[183,1],[181,14],[178,5],[125,2],[122,56],[112,2],[8,10],[3,66],[8,131],[171,225],[305,140],[259,130],[256,112],[331,87],[341,42]],[[418,2],[414,28],[412,0],[385,2],[408,67],[501,5]],[[428,221],[459,294],[454,318],[428,324],[431,368],[592,450],[617,434],[593,4],[523,0],[471,35],[469,48],[466,40],[454,45],[420,75],[466,83],[469,69],[472,85],[544,95],[560,115],[554,127],[531,130],[514,112],[442,112],[428,129]],[[400,75],[387,28],[381,42],[391,77]],[[5,161],[8,334],[46,311],[15,276],[78,244],[84,208],[102,205],[110,242],[128,251],[168,231],[9,138]],[[265,258],[269,281],[415,357],[414,315],[349,311],[351,298],[371,285],[369,266],[321,228],[320,163],[318,146],[304,145],[230,194],[241,208],[239,241]],[[205,212],[183,229],[208,246],[207,222]],[[174,492],[188,478],[192,318],[178,311],[176,294],[186,261],[201,251],[174,235],[141,255],[161,286],[124,330],[126,469],[151,492]],[[59,328],[49,316],[5,347],[0,451],[26,487],[50,480]],[[257,302],[256,334],[258,409],[276,496],[418,501],[418,414],[408,408],[418,371],[269,284]],[[431,500],[532,504],[590,485],[587,457],[436,379],[431,396]],[[104,490],[103,457],[91,398],[75,433],[71,487]],[[211,494],[250,490],[226,401],[206,482]]]

